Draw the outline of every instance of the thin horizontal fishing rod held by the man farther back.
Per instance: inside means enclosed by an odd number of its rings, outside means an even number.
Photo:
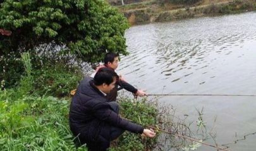
[[[256,96],[253,94],[147,94],[147,96]]]

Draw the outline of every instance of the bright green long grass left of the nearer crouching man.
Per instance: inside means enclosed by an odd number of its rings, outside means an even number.
[[[68,100],[16,96],[9,101],[12,94],[0,92],[0,150],[76,150],[68,126]]]

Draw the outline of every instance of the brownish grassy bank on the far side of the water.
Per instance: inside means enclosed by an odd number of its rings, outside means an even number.
[[[177,4],[159,1],[144,1],[142,3],[118,6],[131,25],[152,22],[174,21],[200,16],[234,14],[256,10],[255,0],[234,1],[198,1],[194,4]]]

